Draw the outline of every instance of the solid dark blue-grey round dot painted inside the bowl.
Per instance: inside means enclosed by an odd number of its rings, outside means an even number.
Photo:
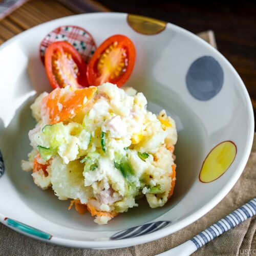
[[[216,96],[223,86],[223,80],[223,70],[211,56],[196,59],[186,74],[187,89],[199,100],[209,100]]]

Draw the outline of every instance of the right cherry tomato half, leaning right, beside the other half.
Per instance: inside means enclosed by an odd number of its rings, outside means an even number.
[[[113,35],[96,50],[87,67],[90,85],[112,82],[121,87],[130,77],[136,58],[133,42],[124,35]]]

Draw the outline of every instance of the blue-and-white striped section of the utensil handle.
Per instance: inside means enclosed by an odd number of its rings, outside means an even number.
[[[233,211],[231,214],[216,222],[214,225],[206,228],[204,231],[190,240],[197,246],[197,248],[200,248],[214,238],[219,237],[222,233],[233,228],[234,226],[237,226],[239,223],[254,215],[256,215],[256,198]]]

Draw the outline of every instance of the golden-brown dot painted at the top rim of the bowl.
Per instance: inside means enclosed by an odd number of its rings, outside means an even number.
[[[155,35],[162,32],[167,22],[162,22],[161,20],[128,14],[127,23],[138,33],[145,35]]]

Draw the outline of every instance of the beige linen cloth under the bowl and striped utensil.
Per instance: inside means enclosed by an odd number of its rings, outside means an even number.
[[[255,135],[255,134],[254,134]],[[17,233],[0,224],[0,255],[156,255],[173,248],[225,217],[256,196],[256,136],[245,170],[229,194],[204,217],[167,237],[122,249],[73,249],[47,244]],[[193,255],[256,255],[255,216],[206,244]],[[118,241],[117,241],[118,243]]]

